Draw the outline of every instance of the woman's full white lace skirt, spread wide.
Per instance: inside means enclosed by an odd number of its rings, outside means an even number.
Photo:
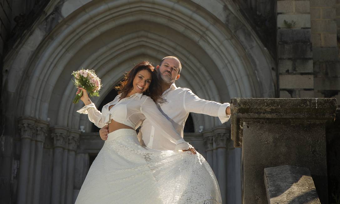
[[[108,134],[75,203],[222,201],[216,177],[201,154],[149,149],[140,146],[136,131],[120,129]]]

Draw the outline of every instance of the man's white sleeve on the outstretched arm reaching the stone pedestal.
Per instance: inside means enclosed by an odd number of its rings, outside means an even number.
[[[221,123],[228,121],[230,118],[230,115],[227,115],[225,112],[226,108],[230,106],[229,103],[221,104],[215,101],[200,99],[190,89],[184,94],[183,103],[186,111],[218,117]]]

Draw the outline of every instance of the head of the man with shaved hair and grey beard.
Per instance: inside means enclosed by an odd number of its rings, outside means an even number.
[[[158,74],[162,80],[167,84],[172,84],[174,81],[180,78],[178,74],[180,62],[172,57],[165,58],[158,68]]]

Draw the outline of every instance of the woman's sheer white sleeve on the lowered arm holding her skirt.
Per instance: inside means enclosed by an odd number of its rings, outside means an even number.
[[[192,147],[176,132],[171,122],[160,113],[150,97],[141,104],[140,111],[156,129],[162,132],[162,135],[176,144],[174,151],[187,150]]]

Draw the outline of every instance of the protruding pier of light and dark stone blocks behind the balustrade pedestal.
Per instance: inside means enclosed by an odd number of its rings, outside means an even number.
[[[309,1],[276,6],[279,98],[314,98]]]

